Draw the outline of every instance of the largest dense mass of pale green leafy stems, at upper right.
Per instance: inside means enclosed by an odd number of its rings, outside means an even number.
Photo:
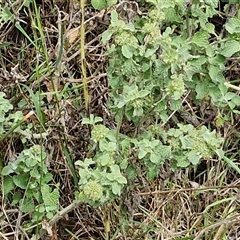
[[[165,122],[172,111],[182,111],[187,89],[198,102],[209,96],[216,106],[233,110],[240,98],[227,91],[223,71],[226,57],[239,52],[239,43],[221,40],[209,23],[217,13],[217,1],[193,2],[189,9],[185,1],[149,2],[149,15],[130,24],[112,11],[111,25],[103,33],[104,43],[112,41],[108,50],[112,110],[124,109],[134,122],[151,110],[151,116]],[[225,25],[229,33],[232,25]],[[208,44],[211,34],[215,41]]]

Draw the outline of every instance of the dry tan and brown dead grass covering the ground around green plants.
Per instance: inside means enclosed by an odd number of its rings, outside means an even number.
[[[46,94],[41,106],[46,138],[41,144],[48,152],[47,164],[54,174],[54,181],[60,183],[60,205],[65,208],[73,202],[74,186],[77,185],[71,166],[86,157],[89,143],[90,129],[81,125],[82,117],[93,113],[102,117],[106,126],[115,126],[106,105],[107,59],[100,42],[109,15],[105,11],[95,12],[89,5],[86,8],[85,50],[90,96],[89,109],[86,110],[80,67],[79,4],[77,1],[57,0],[55,4],[50,0],[37,1],[42,39],[36,26],[33,30],[33,23],[37,22],[33,6],[29,12],[28,8],[21,7],[22,3],[16,1],[9,7],[15,13],[15,21],[21,23],[36,45],[30,45],[14,23],[1,25],[0,44],[6,46],[0,45],[0,91],[6,93],[15,109],[20,108],[18,104],[24,100],[26,104],[20,110],[25,114],[36,109],[23,85]],[[64,49],[61,49],[60,65],[55,68],[60,51],[59,24],[63,27]],[[53,84],[61,95],[56,96]],[[233,121],[238,128],[237,120]],[[38,116],[32,116],[27,124],[30,123],[31,131],[39,134]],[[228,129],[221,131],[226,133],[228,146],[233,145],[233,148],[227,146],[229,156],[238,159],[238,140],[235,135],[227,134]],[[40,141],[34,135],[27,137],[29,144]],[[23,150],[20,138],[12,136],[0,143],[6,164]],[[178,172],[172,172],[166,164],[158,179],[151,183],[142,181],[143,184],[139,182],[128,189],[122,199],[109,204],[107,213],[101,207],[79,205],[54,225],[48,239],[217,240],[226,239],[225,236],[239,239],[239,176],[223,163],[212,161],[203,163],[195,171]],[[0,239],[31,239],[29,229],[22,227],[22,222],[28,218],[12,208],[10,202],[2,202]],[[106,225],[109,225],[107,231]]]

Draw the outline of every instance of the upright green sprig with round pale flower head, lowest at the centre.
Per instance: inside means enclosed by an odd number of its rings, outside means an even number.
[[[90,116],[83,122],[93,124],[92,149],[97,153],[92,158],[77,161],[79,166],[80,200],[92,205],[103,204],[120,196],[127,184],[120,167],[121,154],[118,153],[116,132],[106,128],[99,122],[100,118]]]

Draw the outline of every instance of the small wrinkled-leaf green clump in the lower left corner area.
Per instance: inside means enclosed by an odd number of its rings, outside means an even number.
[[[23,150],[17,159],[2,169],[5,199],[19,206],[23,213],[32,212],[31,222],[50,219],[58,210],[59,191],[48,184],[52,174],[44,161],[46,153],[39,145]]]

